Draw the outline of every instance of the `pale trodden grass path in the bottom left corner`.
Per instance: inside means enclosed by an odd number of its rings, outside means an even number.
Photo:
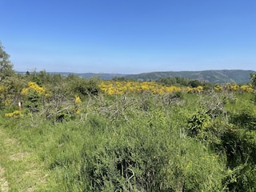
[[[20,142],[7,134],[2,126],[0,146],[1,177],[5,186],[2,186],[2,191],[34,191],[46,184],[47,173],[36,155],[24,150]]]

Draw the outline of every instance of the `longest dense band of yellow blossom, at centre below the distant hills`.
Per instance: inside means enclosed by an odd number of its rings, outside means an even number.
[[[142,93],[149,91],[153,94],[165,94],[174,91],[182,91],[178,86],[162,86],[157,82],[114,82],[102,81],[99,84],[101,90],[106,94]]]

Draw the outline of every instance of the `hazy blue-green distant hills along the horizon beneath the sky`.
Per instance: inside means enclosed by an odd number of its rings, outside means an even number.
[[[24,74],[24,72],[22,72]],[[250,74],[256,74],[254,70],[202,70],[202,71],[162,71],[150,72],[142,74],[95,74],[95,73],[69,73],[69,72],[53,72],[50,74],[76,74],[82,78],[100,78],[110,80],[112,78],[129,78],[135,81],[154,81],[158,78],[180,77],[197,79],[202,82],[211,83],[246,83],[250,82]]]

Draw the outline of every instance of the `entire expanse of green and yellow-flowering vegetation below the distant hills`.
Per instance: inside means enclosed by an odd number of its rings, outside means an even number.
[[[251,85],[7,74],[0,81],[2,191],[256,187],[254,74]]]

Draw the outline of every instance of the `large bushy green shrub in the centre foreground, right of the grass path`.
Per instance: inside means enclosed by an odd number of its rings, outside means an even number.
[[[222,160],[204,144],[179,138],[163,110],[150,112],[118,127],[100,116],[90,120],[94,134],[85,138],[79,176],[84,190],[222,190]]]

